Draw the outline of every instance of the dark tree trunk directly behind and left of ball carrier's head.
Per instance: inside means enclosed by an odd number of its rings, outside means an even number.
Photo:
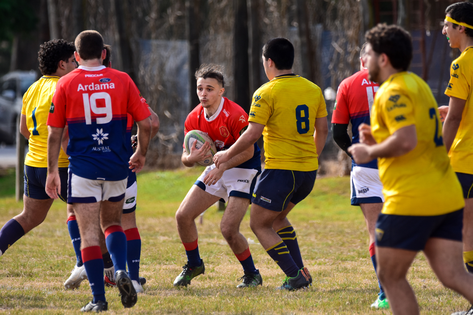
[[[200,101],[197,96],[197,79],[195,78],[195,70],[201,66],[199,58],[200,46],[199,46],[199,28],[200,28],[200,16],[199,16],[199,4],[196,0],[185,1],[186,19],[185,27],[187,32],[187,41],[189,42],[189,91],[190,91],[190,108],[192,111]]]

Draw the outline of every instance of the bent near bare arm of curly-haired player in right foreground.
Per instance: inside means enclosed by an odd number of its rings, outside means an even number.
[[[368,163],[378,157],[401,156],[412,151],[417,145],[415,125],[400,128],[380,144],[355,144],[348,148],[355,162]]]

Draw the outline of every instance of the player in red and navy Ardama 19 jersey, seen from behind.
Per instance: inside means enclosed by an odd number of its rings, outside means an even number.
[[[68,203],[73,205],[81,231],[82,261],[94,296],[81,311],[108,309],[105,299],[100,230],[115,266],[122,304],[132,307],[136,290],[126,269],[126,236],[121,226],[123,201],[130,165],[140,171],[146,160],[151,123],[148,108],[131,78],[102,65],[106,51],[96,31],[81,32],[75,41],[80,66],[58,81],[47,120],[48,177],[46,193],[58,198],[61,183],[58,154],[68,124]],[[66,106],[67,104],[67,106]],[[138,125],[138,147],[127,150],[127,113]],[[128,142],[130,139],[128,139]]]

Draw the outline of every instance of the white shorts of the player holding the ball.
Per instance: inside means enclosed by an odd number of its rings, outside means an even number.
[[[205,176],[210,170],[215,169],[215,164],[207,166],[194,185],[201,187],[210,195],[220,197],[228,202],[228,197],[235,196],[250,199],[253,194],[254,185],[261,174],[260,170],[232,168],[223,172],[222,177],[215,185],[205,185],[203,183]]]

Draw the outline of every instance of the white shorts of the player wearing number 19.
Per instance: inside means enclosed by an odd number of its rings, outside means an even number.
[[[125,197],[127,179],[109,181],[86,179],[69,169],[68,204],[92,204],[98,201],[118,202]]]

